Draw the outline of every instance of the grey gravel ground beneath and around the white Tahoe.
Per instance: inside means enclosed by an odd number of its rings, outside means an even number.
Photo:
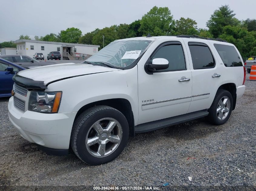
[[[247,74],[248,78],[248,74]],[[51,156],[23,139],[0,99],[0,185],[238,186],[256,188],[256,81],[246,81],[230,119],[204,118],[129,138],[108,164],[88,166],[73,153]],[[188,177],[192,177],[189,181]],[[0,186],[0,189],[1,189]]]

